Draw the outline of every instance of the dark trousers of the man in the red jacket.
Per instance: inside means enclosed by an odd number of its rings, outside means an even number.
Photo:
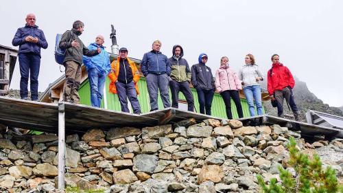
[[[277,101],[278,116],[283,117],[283,99],[286,100],[287,104],[291,107],[294,117],[298,118],[298,107],[294,102],[294,95],[292,89],[285,87],[281,91],[275,91],[274,97]]]

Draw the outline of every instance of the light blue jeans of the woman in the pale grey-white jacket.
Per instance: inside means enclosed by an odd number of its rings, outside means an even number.
[[[263,115],[261,87],[259,85],[252,85],[244,87],[243,91],[244,95],[246,95],[246,100],[248,101],[250,116],[255,116],[254,98],[257,107],[257,115]]]

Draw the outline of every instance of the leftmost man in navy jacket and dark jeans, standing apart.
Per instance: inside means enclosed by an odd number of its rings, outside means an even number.
[[[31,100],[37,101],[40,47],[47,49],[47,41],[43,31],[38,29],[36,25],[36,16],[34,14],[27,14],[25,20],[25,27],[16,30],[12,45],[19,45],[21,99],[27,100],[27,82],[30,81]]]

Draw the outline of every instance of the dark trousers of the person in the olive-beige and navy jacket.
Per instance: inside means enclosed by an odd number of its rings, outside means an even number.
[[[178,93],[181,91],[187,100],[188,111],[194,111],[194,99],[189,89],[189,82],[177,82],[176,80],[171,80],[169,82],[169,87],[171,91],[171,107],[178,108]]]

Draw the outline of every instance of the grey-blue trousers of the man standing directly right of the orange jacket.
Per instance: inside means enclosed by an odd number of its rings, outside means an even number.
[[[147,91],[150,97],[150,111],[158,110],[158,89],[160,90],[161,99],[165,108],[170,107],[169,101],[169,79],[167,73],[153,74],[148,73],[145,77],[147,80]]]

